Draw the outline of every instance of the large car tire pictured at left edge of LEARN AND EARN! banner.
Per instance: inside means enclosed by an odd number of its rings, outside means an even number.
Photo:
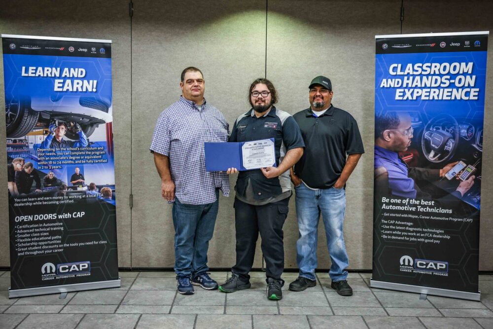
[[[7,138],[26,136],[35,126],[39,113],[19,99],[5,103],[5,125]]]

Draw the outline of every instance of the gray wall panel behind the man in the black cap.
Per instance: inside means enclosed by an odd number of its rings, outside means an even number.
[[[352,269],[372,266],[374,40],[399,32],[399,7],[400,1],[269,1],[267,78],[279,89],[279,108],[292,114],[308,108],[311,79],[325,75],[332,81],[332,103],[354,116],[365,143],[346,189],[344,235]],[[286,267],[297,267],[294,202],[284,231]],[[328,268],[321,221],[317,254],[318,267]]]

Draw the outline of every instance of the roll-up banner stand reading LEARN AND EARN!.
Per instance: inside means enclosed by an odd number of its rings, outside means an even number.
[[[111,41],[1,37],[9,297],[120,287]]]

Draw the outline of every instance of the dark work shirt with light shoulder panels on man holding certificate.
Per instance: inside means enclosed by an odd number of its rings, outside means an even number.
[[[274,138],[278,166],[287,151],[305,146],[298,124],[291,114],[277,110],[276,107],[272,107],[267,114],[259,118],[255,116],[253,109],[240,115],[235,121],[229,141],[249,142],[268,138]],[[256,200],[279,196],[291,189],[289,170],[270,179],[266,178],[260,169],[241,171],[235,187],[239,195],[246,196],[248,182],[251,183]]]

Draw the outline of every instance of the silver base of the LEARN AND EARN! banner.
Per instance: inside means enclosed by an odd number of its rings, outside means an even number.
[[[50,287],[38,287],[38,288],[28,288],[28,289],[8,289],[8,297],[26,297],[26,296],[36,296],[44,295],[49,293],[59,293],[59,292],[78,292],[82,290],[94,290],[94,289],[104,289],[104,288],[118,288],[121,286],[121,278],[118,280],[109,281],[98,281],[98,282],[85,282],[76,283],[73,285],[63,285],[63,286],[50,286]]]

